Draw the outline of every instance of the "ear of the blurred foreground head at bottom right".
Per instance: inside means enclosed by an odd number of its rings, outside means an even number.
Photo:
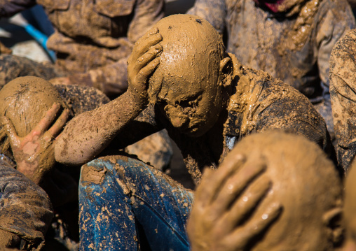
[[[334,246],[343,242],[345,227],[343,224],[342,208],[333,208],[322,216],[324,226],[327,227],[327,238],[334,243]]]

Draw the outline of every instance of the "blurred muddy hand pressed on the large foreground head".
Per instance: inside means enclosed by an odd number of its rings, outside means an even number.
[[[280,204],[271,203],[251,216],[272,186],[263,159],[251,159],[235,155],[205,171],[187,224],[191,250],[245,250],[280,215]]]

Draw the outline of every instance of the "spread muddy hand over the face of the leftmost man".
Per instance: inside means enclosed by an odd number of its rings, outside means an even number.
[[[10,140],[18,171],[25,174],[36,184],[41,182],[43,175],[48,173],[55,164],[53,143],[69,117],[69,110],[66,109],[50,127],[60,108],[60,104],[53,104],[45,117],[25,137],[18,136],[13,124],[7,117],[0,117],[1,124],[5,127]]]

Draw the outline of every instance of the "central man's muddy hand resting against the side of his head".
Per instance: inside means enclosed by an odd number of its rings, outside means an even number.
[[[147,88],[149,77],[160,64],[162,36],[157,28],[151,29],[135,43],[128,59],[128,92],[139,104],[148,103]]]

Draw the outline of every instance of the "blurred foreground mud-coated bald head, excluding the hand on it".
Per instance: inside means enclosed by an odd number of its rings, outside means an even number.
[[[342,187],[334,164],[303,136],[271,131],[247,136],[226,157],[263,159],[272,187],[256,209],[271,203],[283,210],[252,250],[334,250],[341,243]]]

